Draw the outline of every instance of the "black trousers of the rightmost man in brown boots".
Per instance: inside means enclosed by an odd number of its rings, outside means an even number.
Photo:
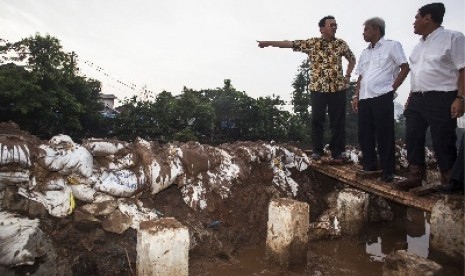
[[[429,127],[439,169],[447,171],[452,168],[457,158],[457,119],[451,118],[450,106],[456,95],[457,91],[410,94],[404,111],[409,164],[424,166],[425,136]]]

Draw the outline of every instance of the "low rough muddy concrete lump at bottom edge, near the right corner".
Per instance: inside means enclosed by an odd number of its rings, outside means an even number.
[[[434,261],[398,250],[389,254],[384,259],[383,276],[405,276],[405,275],[444,275],[441,265]]]

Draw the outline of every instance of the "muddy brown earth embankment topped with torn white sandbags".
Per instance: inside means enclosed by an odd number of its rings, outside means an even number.
[[[38,220],[22,238],[47,248],[26,252],[28,263],[4,252],[11,258],[0,265],[2,275],[134,275],[139,223],[160,217],[188,227],[197,275],[206,260],[229,260],[244,246],[264,243],[271,198],[317,200],[318,185],[304,172],[310,161],[288,145],[78,145],[65,135],[40,141],[13,124],[0,128],[8,148],[0,163],[0,211],[15,214],[18,225]],[[20,231],[14,233],[0,240],[17,242]]]

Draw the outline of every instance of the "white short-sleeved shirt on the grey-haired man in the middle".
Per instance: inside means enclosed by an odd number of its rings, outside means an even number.
[[[399,42],[381,38],[374,47],[370,43],[362,51],[355,71],[362,76],[359,99],[375,98],[394,90],[392,85],[404,63],[407,58]]]

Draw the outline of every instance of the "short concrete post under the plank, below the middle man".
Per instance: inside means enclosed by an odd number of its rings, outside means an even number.
[[[337,197],[337,219],[342,234],[356,235],[362,229],[368,216],[369,194],[345,188]]]

